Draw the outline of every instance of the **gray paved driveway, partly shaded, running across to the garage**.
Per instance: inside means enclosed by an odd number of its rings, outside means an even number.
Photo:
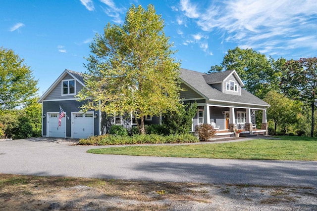
[[[96,155],[71,143],[0,141],[0,173],[317,187],[317,162]]]

